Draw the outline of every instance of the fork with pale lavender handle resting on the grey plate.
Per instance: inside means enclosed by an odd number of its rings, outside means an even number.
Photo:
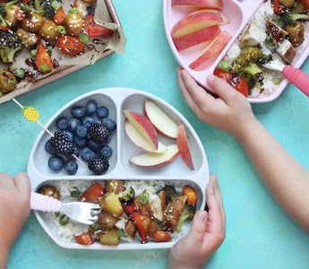
[[[53,197],[31,192],[30,208],[43,212],[60,212],[67,215],[73,221],[84,224],[92,224],[98,220],[101,210],[99,204],[84,202],[62,203]]]

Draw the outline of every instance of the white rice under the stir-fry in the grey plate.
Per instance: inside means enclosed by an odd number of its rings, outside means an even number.
[[[104,186],[104,181],[101,182],[102,186]],[[75,202],[77,198],[71,197],[70,193],[75,190],[77,187],[81,193],[83,193],[88,187],[90,187],[91,182],[85,182],[84,180],[59,180],[54,181],[52,184],[56,187],[60,192],[60,201],[64,203]],[[146,189],[150,193],[150,201],[156,196],[156,192],[159,191],[162,187],[170,185],[163,180],[126,180],[124,183],[125,187],[133,187],[135,191],[135,196],[141,195],[142,192]],[[181,193],[182,187],[184,186],[184,182],[175,182],[173,186],[176,187],[176,191]],[[79,222],[69,220],[66,225],[61,225],[59,223],[59,217],[56,217],[55,213],[45,213],[47,221],[52,222],[54,225],[54,229],[56,231],[56,235],[60,239],[64,239],[64,241],[75,242],[74,235],[82,234],[83,232],[88,231],[89,225],[82,224]],[[117,221],[116,227],[118,229],[124,229],[125,217],[124,215]],[[191,221],[185,221],[183,228],[180,233],[174,232],[171,233],[172,239],[180,239],[185,236],[185,234],[190,230]],[[136,236],[136,243],[139,243],[139,237]],[[133,242],[129,237],[122,238],[121,242]]]

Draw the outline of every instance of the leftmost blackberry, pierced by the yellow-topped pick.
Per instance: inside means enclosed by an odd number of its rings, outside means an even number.
[[[59,154],[70,156],[75,151],[75,145],[69,135],[64,132],[56,132],[54,137],[50,139],[50,146]]]

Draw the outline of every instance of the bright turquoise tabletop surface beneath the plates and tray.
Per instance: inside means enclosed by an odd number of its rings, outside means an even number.
[[[108,56],[23,95],[19,98],[21,103],[37,108],[40,121],[45,123],[68,101],[99,88],[129,87],[166,100],[184,114],[200,135],[210,173],[218,175],[224,198],[227,237],[205,267],[309,268],[308,235],[270,197],[236,140],[202,124],[186,106],[176,82],[177,63],[164,33],[161,1],[114,0],[114,4],[127,38],[124,56]],[[309,61],[303,69],[309,73]],[[278,100],[253,105],[262,124],[307,168],[308,106],[309,99],[291,85]],[[13,102],[1,105],[0,115],[0,171],[13,176],[27,170],[40,128],[26,121]],[[8,268],[166,268],[167,254],[166,249],[64,249],[49,239],[31,213],[12,248]]]

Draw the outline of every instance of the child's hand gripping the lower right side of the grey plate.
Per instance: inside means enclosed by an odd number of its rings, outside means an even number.
[[[226,215],[217,178],[210,176],[206,188],[208,213],[195,213],[193,226],[185,238],[172,247],[169,253],[170,268],[201,268],[222,244],[226,232]]]

